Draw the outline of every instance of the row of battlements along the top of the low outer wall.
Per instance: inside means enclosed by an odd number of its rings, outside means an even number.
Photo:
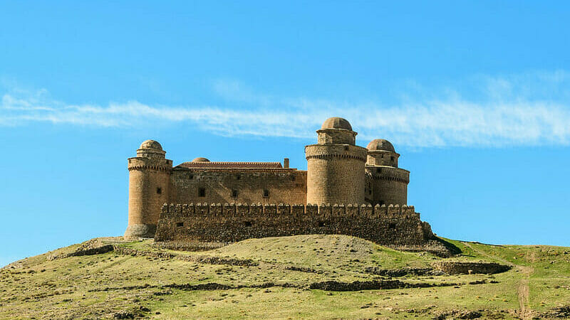
[[[396,205],[360,205],[321,204],[306,206],[301,204],[264,204],[261,203],[165,203],[160,211],[160,218],[177,218],[189,216],[212,216],[219,218],[250,217],[268,218],[272,216],[290,215],[299,217],[348,217],[348,218],[383,218],[383,219],[420,219],[420,213],[414,206]]]

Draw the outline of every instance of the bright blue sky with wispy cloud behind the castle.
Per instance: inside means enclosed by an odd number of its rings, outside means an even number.
[[[0,265],[121,235],[145,139],[306,169],[332,116],[438,235],[570,246],[568,2],[163,2],[0,1]]]

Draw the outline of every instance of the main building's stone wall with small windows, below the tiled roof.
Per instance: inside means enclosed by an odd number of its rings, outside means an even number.
[[[294,169],[175,168],[170,181],[173,203],[306,203],[307,173]]]

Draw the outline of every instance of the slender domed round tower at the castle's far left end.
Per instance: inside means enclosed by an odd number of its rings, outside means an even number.
[[[168,202],[172,160],[154,140],[142,142],[128,159],[129,222],[125,239],[153,238],[162,204]]]

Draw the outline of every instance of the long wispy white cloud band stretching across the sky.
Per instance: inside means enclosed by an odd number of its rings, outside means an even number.
[[[424,88],[429,90],[429,88]],[[383,137],[400,146],[505,146],[570,144],[570,74],[529,73],[479,76],[477,97],[445,87],[440,96],[407,95],[405,102],[350,103],[306,97],[256,94],[239,82],[220,81],[214,90],[251,108],[145,105],[136,100],[108,105],[70,105],[46,90],[6,90],[0,125],[31,122],[132,127],[157,122],[187,122],[224,136],[314,137],[331,116],[346,117],[361,139]]]

